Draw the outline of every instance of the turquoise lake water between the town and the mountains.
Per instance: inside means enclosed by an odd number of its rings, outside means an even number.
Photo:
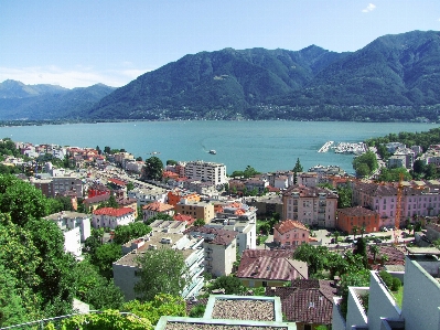
[[[353,172],[350,155],[318,153],[328,140],[358,142],[399,131],[427,131],[434,124],[336,121],[139,121],[1,127],[0,138],[32,143],[126,149],[165,162],[205,160],[226,164],[228,173],[246,166],[257,171],[290,170],[297,158],[304,170],[341,166]],[[215,149],[217,155],[210,155]]]

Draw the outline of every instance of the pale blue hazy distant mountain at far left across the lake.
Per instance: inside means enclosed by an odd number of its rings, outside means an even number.
[[[67,89],[54,85],[24,85],[6,81],[0,84],[0,119],[82,119],[83,111],[87,111],[115,89],[103,84]]]

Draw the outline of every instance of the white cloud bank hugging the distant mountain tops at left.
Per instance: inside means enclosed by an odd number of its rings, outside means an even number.
[[[96,71],[93,67],[76,66],[64,70],[57,66],[34,66],[23,68],[0,67],[0,82],[20,81],[26,85],[51,84],[66,88],[88,87],[98,83],[120,87],[150,70],[121,67],[120,70]]]

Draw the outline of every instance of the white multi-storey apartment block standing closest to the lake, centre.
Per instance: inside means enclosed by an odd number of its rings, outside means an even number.
[[[216,162],[189,161],[185,164],[185,177],[215,185],[227,183],[226,166]]]

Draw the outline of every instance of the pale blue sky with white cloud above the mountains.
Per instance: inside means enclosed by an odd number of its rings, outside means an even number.
[[[440,31],[440,0],[1,0],[0,82],[120,87],[186,54],[354,52]]]

